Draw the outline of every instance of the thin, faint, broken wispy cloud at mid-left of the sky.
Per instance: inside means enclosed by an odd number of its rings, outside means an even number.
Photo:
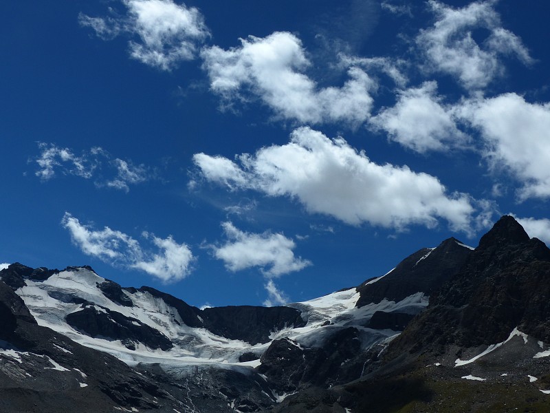
[[[130,184],[139,184],[153,178],[154,174],[144,165],[134,165],[131,160],[112,158],[100,147],[75,155],[69,148],[52,143],[39,142],[40,156],[34,158],[38,169],[34,175],[42,181],[55,178],[58,173],[80,178],[94,178],[96,187],[110,187],[128,192]]]

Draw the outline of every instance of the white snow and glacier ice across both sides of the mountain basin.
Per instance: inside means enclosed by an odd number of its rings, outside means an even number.
[[[41,326],[52,328],[70,339],[97,350],[109,352],[129,364],[135,363],[224,363],[254,367],[270,342],[251,345],[245,341],[227,339],[215,335],[206,328],[187,326],[177,309],[166,304],[164,299],[151,293],[122,289],[133,306],[124,306],[107,298],[100,290],[106,279],[91,268],[69,267],[44,281],[26,279],[25,286],[16,293],[25,301],[36,321]],[[356,308],[359,293],[355,288],[340,291],[301,303],[289,304],[300,310],[306,325],[300,328],[288,327],[273,331],[271,339],[287,337],[305,346],[322,343],[322,337],[335,328],[355,326],[371,335],[373,339],[395,335],[393,330],[372,330],[364,327],[376,311],[421,310],[428,304],[427,297],[417,293],[397,303],[384,299],[380,303]],[[151,348],[147,343],[135,339],[132,348],[128,342],[114,337],[91,337],[85,331],[67,323],[67,317],[83,308],[104,313],[113,323],[113,313],[129,319],[136,327],[148,326],[157,330],[172,343],[167,350]],[[197,317],[200,318],[200,315]],[[256,361],[240,362],[244,353],[254,353]]]

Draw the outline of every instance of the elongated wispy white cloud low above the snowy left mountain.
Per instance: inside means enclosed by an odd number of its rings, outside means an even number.
[[[186,244],[178,244],[171,235],[166,238],[143,233],[159,251],[154,253],[134,240],[130,235],[105,226],[94,230],[90,225],[81,224],[77,218],[66,212],[61,224],[71,234],[73,243],[86,255],[103,262],[126,268],[137,268],[153,275],[162,282],[175,282],[184,279],[191,271],[194,257]]]

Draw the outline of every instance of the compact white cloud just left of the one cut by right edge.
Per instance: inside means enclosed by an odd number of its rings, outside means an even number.
[[[432,81],[399,92],[396,105],[371,118],[371,124],[414,151],[443,151],[463,147],[468,140],[456,127],[452,112],[437,96],[437,83]]]

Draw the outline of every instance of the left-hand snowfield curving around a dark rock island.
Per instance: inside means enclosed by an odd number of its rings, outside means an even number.
[[[243,341],[226,339],[205,328],[189,327],[175,308],[148,292],[122,290],[133,302],[133,306],[122,306],[102,294],[98,284],[103,282],[104,278],[88,268],[70,268],[45,281],[26,280],[27,285],[16,293],[41,326],[61,332],[84,346],[109,352],[129,364],[239,363],[239,356],[245,350],[265,348],[265,345],[250,346]],[[99,313],[109,310],[119,313],[136,327],[145,325],[157,330],[173,343],[173,347],[161,350],[135,340],[135,350],[131,350],[120,339],[90,337],[67,324],[67,316],[83,308],[94,308]]]

